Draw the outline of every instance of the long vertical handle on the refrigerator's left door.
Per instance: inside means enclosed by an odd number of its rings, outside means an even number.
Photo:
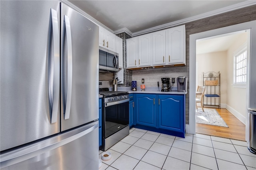
[[[48,92],[50,103],[50,121],[51,123],[57,122],[58,115],[58,102],[59,102],[59,89],[60,89],[60,52],[59,52],[59,38],[58,38],[58,15],[57,11],[50,10],[48,34],[48,48],[52,48],[53,53],[48,53]],[[52,45],[53,44],[53,45]],[[51,51],[51,50],[50,50]],[[53,69],[52,69],[53,66]]]

